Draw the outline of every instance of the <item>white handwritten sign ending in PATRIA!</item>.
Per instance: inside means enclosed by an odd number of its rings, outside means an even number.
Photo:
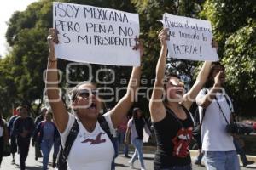
[[[212,26],[209,21],[165,13],[163,25],[169,28],[168,57],[218,60],[216,48],[212,48]]]

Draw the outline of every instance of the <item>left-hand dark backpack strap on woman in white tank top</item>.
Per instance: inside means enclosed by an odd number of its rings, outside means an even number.
[[[75,119],[75,121],[73,122],[73,126],[71,127],[69,134],[67,136],[65,147],[63,149],[63,156],[65,157],[66,160],[71,150],[71,147],[73,145],[73,142],[78,136],[78,133],[79,133],[79,123],[77,119]],[[61,149],[62,149],[62,145],[61,145]]]

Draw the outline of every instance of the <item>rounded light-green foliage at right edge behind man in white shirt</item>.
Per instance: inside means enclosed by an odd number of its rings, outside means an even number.
[[[256,20],[232,34],[224,46],[227,83],[236,101],[256,101]],[[252,109],[251,105],[250,109]],[[244,108],[247,111],[246,108]],[[248,112],[248,111],[247,111]],[[252,112],[252,111],[249,111]]]

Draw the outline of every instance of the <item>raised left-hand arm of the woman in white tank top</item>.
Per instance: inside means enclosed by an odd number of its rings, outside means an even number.
[[[58,43],[57,31],[49,29],[48,36],[49,58],[46,71],[46,93],[49,99],[49,105],[53,111],[56,126],[60,133],[63,133],[67,127],[68,114],[66,107],[59,95],[57,59],[55,58],[55,43]]]

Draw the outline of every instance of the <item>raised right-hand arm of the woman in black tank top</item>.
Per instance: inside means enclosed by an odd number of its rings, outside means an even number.
[[[214,40],[212,40],[212,48],[216,48],[216,50],[218,50],[218,43]],[[189,92],[184,95],[184,101],[182,104],[187,108],[187,110],[190,109],[190,106],[192,105],[192,103],[195,102],[195,98],[197,94],[200,92],[201,88],[207,82],[211,65],[212,65],[211,61],[204,62],[204,64],[201,67],[201,70],[199,71],[199,74],[196,77],[195,83],[193,84],[192,88],[190,88]]]

